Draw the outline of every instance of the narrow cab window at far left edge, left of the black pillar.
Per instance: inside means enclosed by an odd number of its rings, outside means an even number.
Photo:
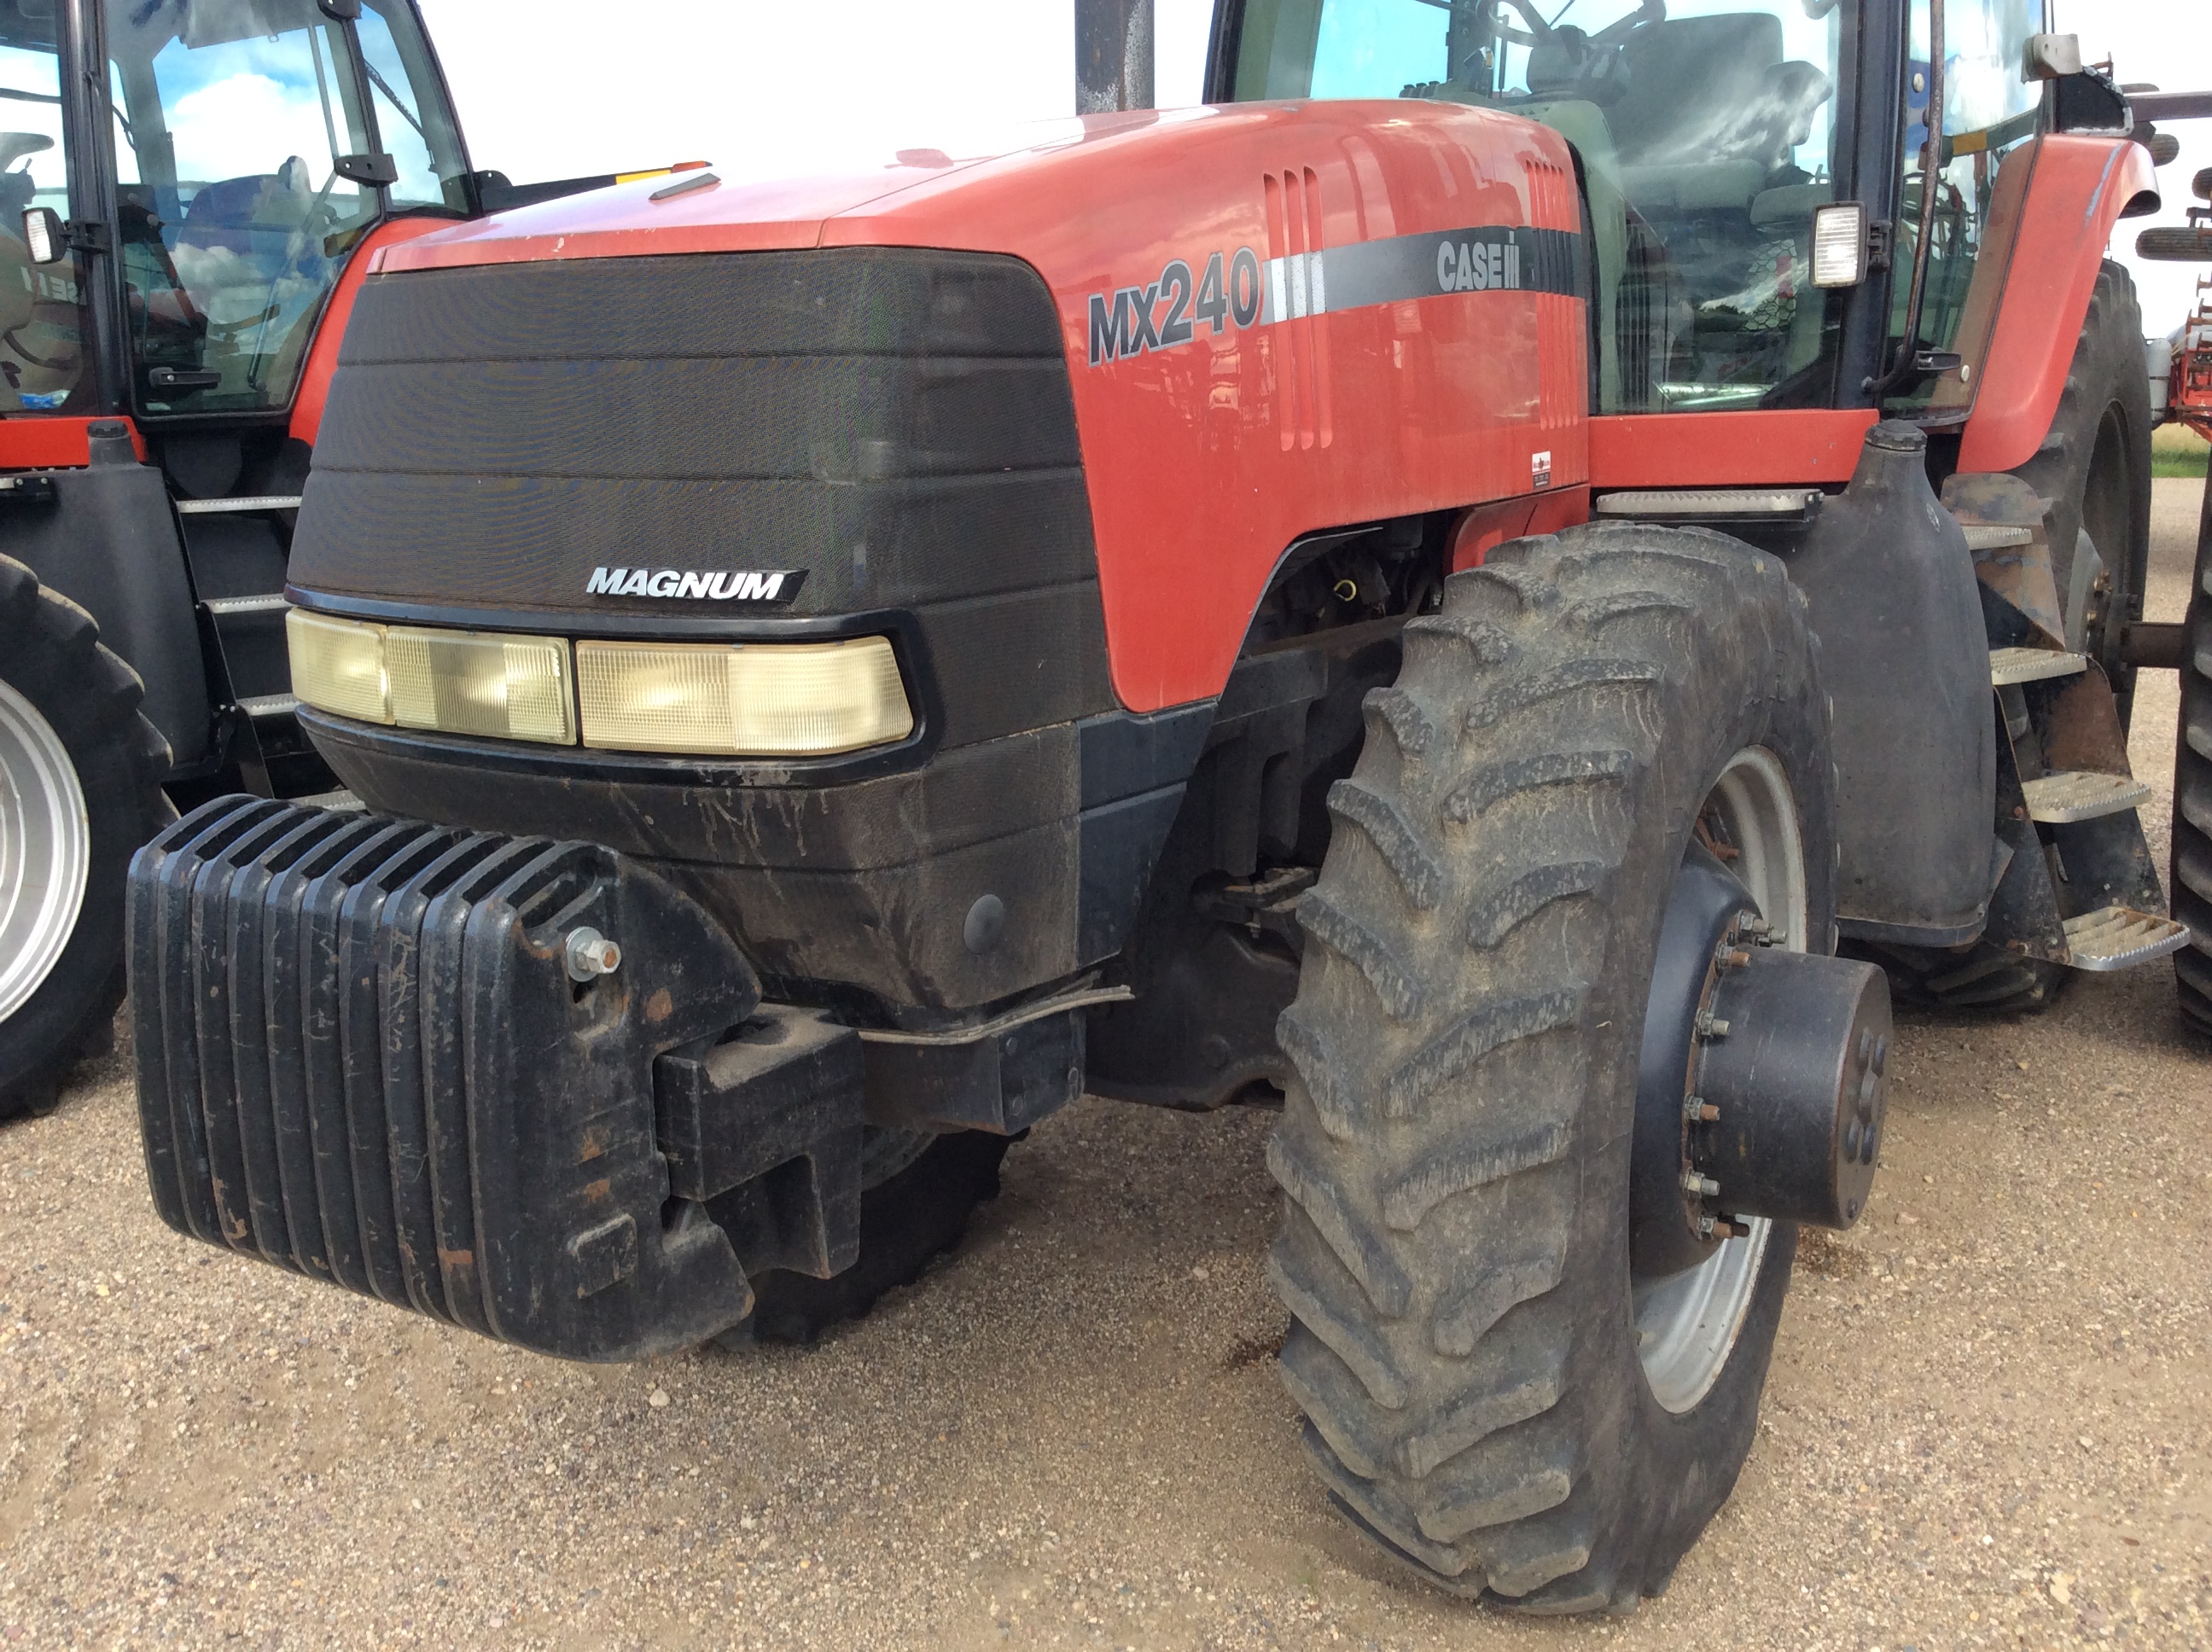
[[[71,217],[53,18],[0,4],[0,414],[69,407],[84,374],[82,270],[31,261],[33,206]]]

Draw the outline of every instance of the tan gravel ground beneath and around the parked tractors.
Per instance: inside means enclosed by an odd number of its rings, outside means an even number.
[[[2152,617],[2197,489],[2159,482]],[[177,1238],[113,1057],[0,1130],[0,1645],[2205,1648],[2212,1059],[2170,1000],[1907,1022],[1734,1499],[1663,1601],[1564,1625],[1400,1581],[1323,1504],[1263,1112],[1084,1101],[823,1347],[597,1369]]]

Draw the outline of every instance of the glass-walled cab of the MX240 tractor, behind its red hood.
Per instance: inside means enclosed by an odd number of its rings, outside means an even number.
[[[1955,420],[2042,130],[2044,84],[2022,62],[2044,20],[2037,0],[1942,9],[1944,142],[1924,179],[1931,18],[1927,0],[1902,11],[1601,0],[1546,20],[1531,0],[1248,0],[1217,95],[1427,97],[1559,130],[1593,217],[1597,414],[1880,400]]]

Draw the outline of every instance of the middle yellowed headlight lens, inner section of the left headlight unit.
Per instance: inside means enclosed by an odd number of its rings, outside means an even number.
[[[400,728],[575,745],[568,644],[560,637],[392,626],[385,672]]]

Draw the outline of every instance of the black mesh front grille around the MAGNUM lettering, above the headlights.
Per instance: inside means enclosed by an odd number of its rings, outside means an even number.
[[[595,568],[803,568],[790,608],[586,595]],[[945,743],[1110,710],[1053,296],[911,248],[376,276],[290,579],[500,615],[909,610]],[[453,617],[453,615],[445,615]]]

